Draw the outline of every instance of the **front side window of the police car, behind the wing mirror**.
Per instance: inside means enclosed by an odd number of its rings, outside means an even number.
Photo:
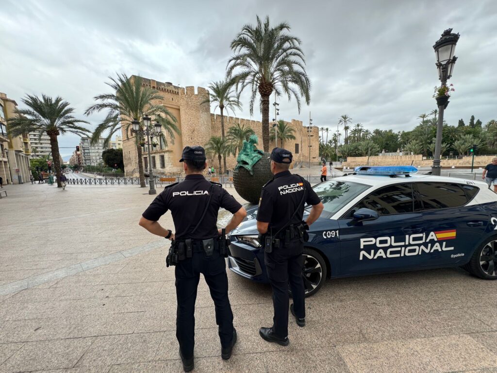
[[[395,184],[376,189],[357,203],[345,217],[352,217],[353,213],[360,208],[374,210],[379,216],[418,210],[412,184]]]

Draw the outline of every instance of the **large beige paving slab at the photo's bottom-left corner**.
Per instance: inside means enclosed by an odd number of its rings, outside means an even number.
[[[94,338],[28,342],[1,366],[2,372],[73,368]]]

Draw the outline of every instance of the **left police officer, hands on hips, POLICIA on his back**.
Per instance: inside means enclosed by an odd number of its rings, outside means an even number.
[[[194,311],[200,274],[204,275],[214,300],[223,359],[231,357],[237,340],[228,299],[226,240],[220,237],[224,230],[218,230],[216,222],[221,207],[234,214],[226,226],[229,232],[247,212],[220,184],[205,180],[202,175],[207,167],[205,161],[204,148],[185,147],[179,161],[183,162],[185,180],[166,187],[145,210],[139,223],[149,232],[172,241],[166,261],[176,266],[176,338],[185,372],[194,367]],[[171,210],[175,233],[158,222],[167,210]]]

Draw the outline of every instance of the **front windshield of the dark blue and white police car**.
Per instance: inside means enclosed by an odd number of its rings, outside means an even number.
[[[371,186],[342,180],[330,180],[313,187],[325,206],[325,211],[335,213],[356,195]]]

